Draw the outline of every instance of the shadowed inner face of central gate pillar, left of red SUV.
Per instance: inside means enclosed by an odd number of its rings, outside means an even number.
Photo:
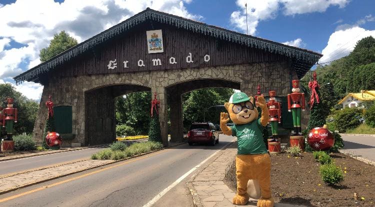
[[[170,141],[183,141],[182,97],[180,93],[169,93]]]

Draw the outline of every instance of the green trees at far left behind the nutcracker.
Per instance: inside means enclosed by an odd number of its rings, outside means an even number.
[[[0,84],[0,106],[6,107],[6,98],[14,98],[13,107],[17,108],[18,121],[14,123],[13,133],[32,133],[39,104],[16,91],[10,83]]]

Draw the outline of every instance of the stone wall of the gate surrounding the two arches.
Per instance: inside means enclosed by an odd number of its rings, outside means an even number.
[[[106,137],[106,135],[105,137],[98,137],[101,136],[99,134],[100,129],[93,128],[92,124],[94,123],[85,122],[85,120],[97,119],[99,116],[93,117],[93,115],[103,113],[105,114],[105,117],[103,116],[105,119],[112,116],[113,123],[115,119],[113,98],[120,94],[118,88],[116,89],[116,94],[114,94],[114,86],[121,86],[123,94],[131,91],[139,91],[139,88],[150,88],[152,94],[156,92],[157,98],[160,100],[159,120],[161,134],[164,145],[167,145],[167,97],[168,95],[176,95],[176,97],[170,98],[178,102],[178,98],[181,98],[180,95],[182,92],[181,90],[177,93],[168,94],[168,88],[184,82],[188,84],[189,81],[193,80],[212,79],[225,80],[226,82],[233,83],[228,84],[228,87],[239,84],[241,91],[248,95],[256,93],[258,84],[261,85],[261,91],[264,94],[267,94],[267,91],[272,89],[276,90],[278,95],[287,95],[290,91],[291,79],[296,78],[297,75],[295,71],[290,70],[289,62],[262,62],[203,68],[152,70],[105,75],[96,74],[76,77],[55,77],[52,73],[49,83],[45,85],[43,89],[40,109],[33,130],[33,137],[38,142],[42,140],[42,132],[47,113],[44,102],[47,100],[49,94],[52,95],[55,106],[72,106],[72,128],[75,134],[75,139],[72,142],[87,145],[110,142],[113,140],[113,131],[106,131],[108,136],[112,134],[112,138]],[[209,82],[207,86],[210,86]],[[98,107],[102,107],[100,110],[108,111],[100,111]],[[173,110],[179,109],[180,106],[177,106],[177,108]],[[86,114],[86,112],[88,114]],[[182,118],[181,115],[179,115],[179,117]],[[176,128],[180,127],[177,126]],[[104,129],[104,131],[105,130],[106,129]],[[89,131],[91,131],[91,133],[89,133]],[[92,131],[96,131],[97,133],[92,134]],[[180,132],[173,134],[180,134]]]

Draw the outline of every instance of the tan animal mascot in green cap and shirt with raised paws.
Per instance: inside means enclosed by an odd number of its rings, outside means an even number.
[[[261,133],[268,123],[268,108],[264,97],[258,96],[256,106],[261,108],[261,117],[258,118],[254,102],[252,96],[248,97],[243,92],[236,92],[230,96],[229,102],[224,104],[229,114],[225,112],[220,114],[222,132],[226,135],[237,136],[238,141],[235,157],[237,193],[232,202],[237,205],[246,204],[249,198],[247,182],[256,180],[261,192],[257,206],[272,207],[274,201],[270,189],[271,161]],[[232,127],[226,125],[229,120],[228,116],[234,123]],[[256,186],[250,185],[250,188],[256,190]]]

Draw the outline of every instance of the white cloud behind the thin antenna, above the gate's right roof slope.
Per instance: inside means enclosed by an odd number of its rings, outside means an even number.
[[[246,32],[247,3],[248,33],[254,35],[259,21],[275,18],[279,10],[285,15],[323,12],[332,5],[343,8],[348,2],[349,0],[236,0],[238,10],[231,13],[230,22],[241,32]]]

